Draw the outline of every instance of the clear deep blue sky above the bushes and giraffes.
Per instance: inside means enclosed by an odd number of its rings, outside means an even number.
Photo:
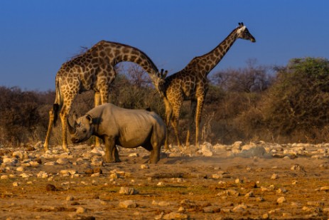
[[[257,42],[236,41],[210,75],[249,58],[329,58],[328,9],[328,0],[0,0],[0,85],[54,90],[60,66],[101,40],[135,46],[176,73],[241,21]]]

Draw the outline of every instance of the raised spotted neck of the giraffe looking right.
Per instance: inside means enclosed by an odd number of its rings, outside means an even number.
[[[237,40],[237,28],[232,31],[229,36],[225,38],[224,41],[222,41],[217,47],[215,47],[212,51],[209,53],[206,53],[203,56],[198,56],[194,58],[190,64],[193,66],[199,66],[200,68],[198,71],[207,75],[210,73],[210,71],[217,66],[218,63],[222,60],[222,58],[225,56],[227,51],[230,50],[233,43]],[[196,65],[197,64],[197,65]],[[186,66],[186,68],[188,68]]]

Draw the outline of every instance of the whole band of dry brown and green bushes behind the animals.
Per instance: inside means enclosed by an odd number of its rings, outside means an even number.
[[[163,100],[149,75],[138,66],[119,66],[116,70],[109,101],[123,108],[151,108],[164,119]],[[213,75],[203,108],[201,142],[329,141],[329,61],[294,58],[275,68],[275,75],[269,70],[249,62],[246,68]],[[55,93],[4,87],[0,93],[0,145],[43,140]],[[93,107],[94,92],[88,91],[77,95],[71,112],[83,115]],[[185,102],[179,126],[182,140],[189,114],[190,103]],[[169,140],[175,142],[173,132],[171,135]],[[61,144],[61,125],[54,127],[50,142]]]

